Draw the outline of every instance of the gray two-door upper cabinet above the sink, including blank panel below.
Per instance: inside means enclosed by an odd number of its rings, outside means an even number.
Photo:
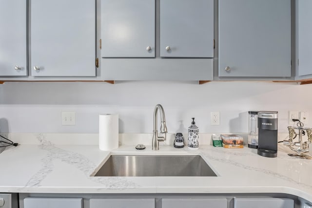
[[[104,80],[213,79],[214,0],[101,0],[100,20]]]

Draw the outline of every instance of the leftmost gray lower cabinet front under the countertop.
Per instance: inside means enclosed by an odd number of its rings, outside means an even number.
[[[24,208],[82,208],[82,198],[28,197]]]

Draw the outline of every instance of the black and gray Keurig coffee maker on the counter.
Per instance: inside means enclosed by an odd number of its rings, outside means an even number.
[[[277,112],[258,112],[258,154],[264,157],[277,156]]]

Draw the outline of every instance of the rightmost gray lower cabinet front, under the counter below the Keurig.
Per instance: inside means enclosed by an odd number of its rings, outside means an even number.
[[[287,198],[234,198],[234,208],[294,208]]]

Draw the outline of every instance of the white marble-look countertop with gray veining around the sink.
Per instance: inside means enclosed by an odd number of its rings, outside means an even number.
[[[201,145],[199,150],[172,145],[138,151],[135,145],[100,151],[98,145],[40,143],[0,153],[0,192],[20,193],[287,193],[312,201],[312,160],[293,158],[279,144],[276,158],[255,149]],[[110,154],[201,155],[218,177],[92,177]]]

